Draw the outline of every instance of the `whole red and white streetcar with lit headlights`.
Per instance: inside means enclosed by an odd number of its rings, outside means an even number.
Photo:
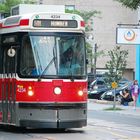
[[[0,21],[0,125],[87,125],[83,19],[30,13]]]

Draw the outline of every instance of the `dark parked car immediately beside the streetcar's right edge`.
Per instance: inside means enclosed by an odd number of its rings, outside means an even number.
[[[106,85],[103,78],[96,78],[88,88],[88,98],[90,99],[101,99],[101,95],[109,90],[110,88]]]

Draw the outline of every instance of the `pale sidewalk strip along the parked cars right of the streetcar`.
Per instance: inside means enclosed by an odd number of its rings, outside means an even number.
[[[110,107],[113,107],[113,102],[94,100],[94,99],[88,100],[88,109],[89,110],[102,110],[102,111],[104,111],[104,109],[107,109]],[[123,106],[123,105],[119,105],[118,103],[116,103],[116,107],[119,107],[122,110],[117,110],[117,111],[112,110],[114,113],[128,114],[128,115],[140,117],[140,107],[137,107],[136,109],[134,109],[132,105]]]

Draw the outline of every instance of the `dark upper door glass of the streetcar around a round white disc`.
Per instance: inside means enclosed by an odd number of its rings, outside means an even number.
[[[15,34],[5,34],[0,38],[0,72],[7,76],[16,73],[17,39]]]

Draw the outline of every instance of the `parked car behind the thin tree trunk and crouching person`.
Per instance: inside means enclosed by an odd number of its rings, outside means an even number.
[[[115,90],[111,89],[109,91],[106,91],[101,95],[101,100],[114,101],[114,92],[115,92],[116,101],[121,101],[122,96],[120,95],[120,92],[123,92],[124,89],[128,89],[130,93],[131,85],[132,85],[132,82],[126,82],[125,84],[122,84]]]

